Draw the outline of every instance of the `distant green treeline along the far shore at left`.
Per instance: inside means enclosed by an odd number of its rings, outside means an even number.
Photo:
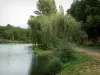
[[[10,24],[0,26],[0,43],[29,43],[31,42],[31,30],[14,27]]]

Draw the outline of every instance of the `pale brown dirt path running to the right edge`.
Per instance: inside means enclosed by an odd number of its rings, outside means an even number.
[[[88,55],[96,56],[100,60],[100,50],[92,50],[86,48],[77,48],[76,51],[86,53]]]

